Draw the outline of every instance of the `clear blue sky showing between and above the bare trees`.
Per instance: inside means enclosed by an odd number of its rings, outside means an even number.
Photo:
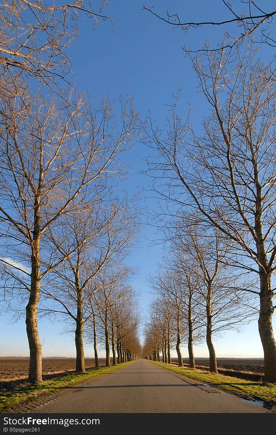
[[[229,17],[221,0],[144,0],[146,6],[155,6],[156,13],[165,15],[169,8],[171,13],[179,13],[185,20],[221,20]],[[97,1],[93,2],[96,5]],[[269,0],[262,6],[274,5]],[[180,113],[186,114],[186,102],[193,109],[195,122],[200,125],[202,115],[206,110],[203,97],[196,92],[197,79],[192,71],[189,60],[184,57],[181,46],[185,43],[193,48],[200,48],[206,39],[211,43],[223,37],[226,28],[201,27],[184,33],[180,29],[173,30],[166,23],[142,10],[140,0],[110,0],[105,13],[113,19],[115,32],[109,22],[100,22],[93,31],[93,23],[81,16],[79,35],[70,49],[72,70],[75,74],[78,90],[89,90],[90,98],[95,107],[106,94],[113,100],[119,95],[133,95],[135,107],[141,117],[148,116],[151,110],[153,119],[162,126],[167,116],[167,107],[173,101],[173,94],[181,86],[183,89],[180,102]],[[233,29],[233,27],[232,27]],[[227,27],[231,30],[231,27]],[[130,178],[133,182],[149,189],[150,180],[140,172],[146,167],[144,158],[149,153],[145,146],[140,145],[131,150],[127,161],[133,165]],[[144,194],[149,211],[156,207],[156,201],[149,194]],[[139,268],[140,272],[133,280],[133,286],[141,290],[141,311],[146,312],[152,295],[146,277],[153,273],[158,262],[162,261],[161,245],[150,246],[149,240],[158,239],[155,229],[147,225],[142,218],[143,238],[141,246],[133,251],[129,263]],[[1,331],[7,331],[2,339],[1,354],[28,355],[28,342],[24,319],[7,327],[8,318],[0,317]],[[75,355],[73,335],[60,335],[59,323],[51,324],[42,319],[39,322],[40,338],[43,343],[43,356]],[[274,332],[276,322],[274,320]],[[242,334],[228,331],[223,338],[214,337],[217,357],[262,357],[263,350],[258,334],[257,321],[245,327]],[[93,356],[93,344],[86,347],[87,357]],[[182,349],[183,357],[188,356],[186,347]],[[100,356],[103,352],[100,353]],[[176,356],[176,353],[173,353]],[[196,357],[207,357],[206,346],[195,347]]]

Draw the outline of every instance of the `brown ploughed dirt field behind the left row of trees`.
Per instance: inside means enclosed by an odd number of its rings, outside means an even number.
[[[100,365],[105,364],[105,359],[99,359]],[[74,358],[43,358],[42,371],[43,375],[52,375],[53,373],[63,373],[75,369],[76,361]],[[86,359],[85,367],[95,366],[94,359]],[[29,358],[0,358],[0,382],[15,381],[28,377]]]

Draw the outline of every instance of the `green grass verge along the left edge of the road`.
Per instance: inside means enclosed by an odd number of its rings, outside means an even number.
[[[60,378],[53,378],[47,381],[43,381],[41,385],[24,385],[14,388],[11,391],[0,391],[0,412],[10,412],[17,406],[27,405],[34,399],[46,398],[52,393],[57,393],[63,390],[63,388],[77,387],[82,384],[86,384],[89,381],[94,381],[101,378],[103,375],[113,373],[113,371],[126,365],[132,364],[133,361],[125,362],[120,365],[114,365],[111,367],[101,367],[99,369],[92,369],[86,373],[79,375],[67,375]],[[66,390],[65,390],[66,391]]]

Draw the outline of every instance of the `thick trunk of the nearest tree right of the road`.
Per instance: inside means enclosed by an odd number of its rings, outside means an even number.
[[[264,380],[276,383],[276,342],[273,335],[273,291],[271,289],[271,277],[260,268],[260,312],[259,312],[259,335],[263,345],[264,355]]]

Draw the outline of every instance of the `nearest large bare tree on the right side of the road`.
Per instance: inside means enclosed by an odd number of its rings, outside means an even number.
[[[230,56],[230,57],[229,57]],[[173,108],[168,137],[155,130],[160,152],[155,168],[168,177],[166,197],[177,198],[201,212],[236,246],[231,261],[259,275],[259,334],[263,344],[265,380],[276,382],[276,342],[272,316],[275,271],[276,85],[273,64],[256,60],[252,46],[206,52],[193,58],[201,90],[211,114],[204,137],[197,137]],[[179,189],[184,189],[183,197]],[[177,197],[174,196],[177,194]],[[235,261],[236,260],[236,261]]]

